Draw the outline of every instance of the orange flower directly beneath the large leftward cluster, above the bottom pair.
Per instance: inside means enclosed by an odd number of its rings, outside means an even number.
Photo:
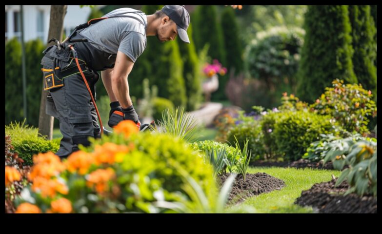
[[[57,192],[60,194],[68,194],[68,188],[62,184],[58,179],[46,179],[44,177],[36,177],[33,180],[32,190],[41,193],[43,197],[54,197]]]

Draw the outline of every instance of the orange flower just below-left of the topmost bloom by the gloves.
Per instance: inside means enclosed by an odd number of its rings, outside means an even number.
[[[106,142],[103,145],[96,145],[93,156],[96,165],[102,163],[113,164],[115,162],[121,162],[124,154],[127,152],[129,152],[129,147],[125,145]]]

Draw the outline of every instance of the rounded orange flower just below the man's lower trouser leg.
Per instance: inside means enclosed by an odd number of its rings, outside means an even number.
[[[93,162],[93,154],[83,151],[76,151],[68,157],[65,165],[68,171],[73,173],[78,170],[80,175],[85,175]]]

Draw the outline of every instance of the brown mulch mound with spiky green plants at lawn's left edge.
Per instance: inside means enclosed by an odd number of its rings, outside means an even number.
[[[230,176],[230,173],[220,176],[220,184]],[[245,176],[245,181],[241,174],[237,175],[228,198],[228,204],[238,204],[246,198],[263,193],[269,193],[273,190],[281,190],[285,186],[281,179],[269,176],[266,173],[249,174]]]

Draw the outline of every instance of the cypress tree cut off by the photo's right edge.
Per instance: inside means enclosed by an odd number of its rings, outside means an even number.
[[[358,82],[377,97],[377,44],[374,40],[376,28],[370,16],[370,6],[350,5],[349,19],[352,26],[352,44],[354,49],[353,66]]]

